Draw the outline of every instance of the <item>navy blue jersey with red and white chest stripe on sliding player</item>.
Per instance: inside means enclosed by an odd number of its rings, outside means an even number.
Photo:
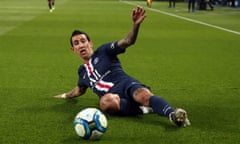
[[[124,52],[125,49],[119,48],[117,42],[100,46],[88,63],[79,67],[78,86],[90,87],[99,97],[115,93],[127,98],[128,89],[141,84],[123,71],[117,55]]]

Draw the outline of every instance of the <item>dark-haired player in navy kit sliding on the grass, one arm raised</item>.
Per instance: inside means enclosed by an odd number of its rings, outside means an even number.
[[[75,98],[91,88],[99,96],[99,108],[109,114],[122,116],[137,115],[153,110],[165,116],[180,127],[190,125],[185,110],[174,109],[163,98],[156,96],[150,88],[127,75],[118,59],[126,49],[136,42],[145,10],[136,7],[132,12],[133,26],[126,37],[105,43],[95,51],[89,35],[75,30],[70,38],[72,51],[83,61],[78,69],[78,84],[73,90],[54,96],[55,98]]]

